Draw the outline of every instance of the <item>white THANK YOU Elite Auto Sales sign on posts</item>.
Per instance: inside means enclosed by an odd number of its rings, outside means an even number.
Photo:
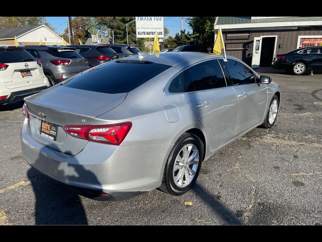
[[[136,38],[164,37],[164,17],[135,17]]]

